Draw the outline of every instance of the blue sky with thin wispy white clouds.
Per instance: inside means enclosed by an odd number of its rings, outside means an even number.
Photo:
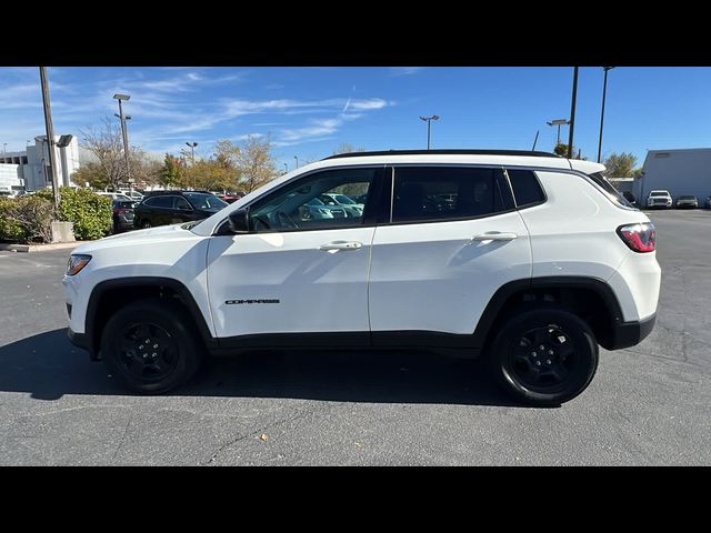
[[[330,155],[342,142],[368,150],[551,150],[547,120],[570,113],[572,68],[117,68],[48,70],[54,131],[80,135],[131,94],[131,144],[160,154],[186,141],[210,155],[218,139],[269,134],[280,168]],[[711,145],[711,68],[629,68],[609,74],[603,158],[647,149]],[[580,69],[575,145],[597,157],[602,69]],[[39,70],[0,68],[0,147],[21,150],[43,133]],[[568,128],[561,137],[567,142]]]

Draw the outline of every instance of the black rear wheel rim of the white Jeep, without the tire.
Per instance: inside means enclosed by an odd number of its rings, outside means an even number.
[[[575,349],[557,325],[537,328],[512,343],[509,363],[513,378],[534,391],[563,385],[573,375]]]

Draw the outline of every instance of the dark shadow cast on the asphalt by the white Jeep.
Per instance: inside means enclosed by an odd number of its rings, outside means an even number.
[[[40,400],[130,394],[102,363],[74,348],[64,329],[0,346],[0,391]],[[483,364],[419,351],[269,351],[210,359],[171,394],[517,406]]]

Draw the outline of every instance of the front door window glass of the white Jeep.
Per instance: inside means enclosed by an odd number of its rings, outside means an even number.
[[[259,233],[362,225],[361,205],[328,204],[322,200],[333,194],[368,198],[375,172],[375,169],[328,170],[289,183],[250,207],[250,227]]]

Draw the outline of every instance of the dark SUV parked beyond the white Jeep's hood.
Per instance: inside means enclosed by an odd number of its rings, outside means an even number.
[[[160,191],[147,195],[134,208],[133,227],[176,224],[191,220],[202,220],[227,205],[210,192]]]

